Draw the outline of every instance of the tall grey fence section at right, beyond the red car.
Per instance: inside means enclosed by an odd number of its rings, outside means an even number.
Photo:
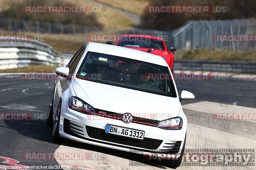
[[[245,39],[246,35],[248,41]],[[256,50],[256,20],[252,18],[188,21],[176,30],[173,36],[177,49]]]

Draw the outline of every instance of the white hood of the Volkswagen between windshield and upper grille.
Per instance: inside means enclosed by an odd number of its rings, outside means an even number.
[[[97,109],[121,114],[131,113],[137,117],[159,121],[177,117],[180,113],[179,98],[81,79],[73,80],[72,86],[78,98]]]

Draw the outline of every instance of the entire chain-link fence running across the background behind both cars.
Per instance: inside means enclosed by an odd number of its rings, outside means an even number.
[[[221,50],[256,50],[256,41],[218,41],[217,36],[256,35],[256,19],[233,20],[198,20],[188,21],[176,30],[121,30],[89,26],[53,24],[50,22],[26,21],[10,18],[0,18],[0,31],[9,34],[28,33],[30,35],[46,35],[53,39],[70,41],[88,41],[88,35],[122,35],[148,34],[167,37],[167,46],[175,46],[177,50],[192,48]],[[255,37],[256,38],[256,37]]]

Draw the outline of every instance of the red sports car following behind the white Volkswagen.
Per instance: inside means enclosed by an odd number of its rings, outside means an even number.
[[[107,44],[113,44],[113,42],[108,41]],[[127,34],[122,35],[115,45],[160,55],[168,63],[170,69],[173,70],[174,54],[172,51],[175,51],[176,48],[167,48],[164,40],[160,37],[151,35]]]

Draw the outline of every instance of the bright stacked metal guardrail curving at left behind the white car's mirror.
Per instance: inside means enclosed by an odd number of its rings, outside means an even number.
[[[9,41],[0,43],[0,69],[31,64],[65,66],[69,59],[52,46],[39,41]]]

